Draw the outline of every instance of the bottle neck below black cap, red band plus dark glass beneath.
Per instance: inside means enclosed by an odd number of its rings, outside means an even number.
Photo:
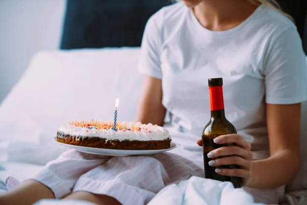
[[[225,118],[223,87],[209,87],[212,118]]]

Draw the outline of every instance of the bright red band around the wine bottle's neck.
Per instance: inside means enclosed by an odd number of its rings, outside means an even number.
[[[209,93],[211,111],[224,109],[223,87],[209,87]]]

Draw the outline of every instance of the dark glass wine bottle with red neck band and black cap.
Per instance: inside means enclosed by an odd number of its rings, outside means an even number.
[[[215,179],[219,181],[230,181],[235,188],[240,188],[242,184],[241,177],[223,176],[215,172],[215,169],[239,169],[237,165],[223,165],[218,167],[209,166],[207,154],[214,149],[224,146],[235,146],[234,144],[215,144],[213,139],[220,135],[236,134],[234,126],[226,119],[224,110],[223,97],[223,78],[208,79],[210,94],[211,119],[205,126],[202,134],[205,178]]]

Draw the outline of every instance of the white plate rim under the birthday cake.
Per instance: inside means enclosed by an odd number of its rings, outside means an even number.
[[[108,156],[151,155],[151,154],[166,152],[166,151],[172,150],[177,147],[177,145],[174,144],[174,142],[170,142],[170,148],[164,149],[164,150],[113,150],[113,149],[102,149],[102,148],[83,147],[83,146],[77,146],[77,145],[68,145],[68,144],[58,142],[56,140],[56,137],[54,137],[54,141],[57,144],[60,144],[67,148],[75,149],[79,152],[99,154],[99,155],[108,155]]]

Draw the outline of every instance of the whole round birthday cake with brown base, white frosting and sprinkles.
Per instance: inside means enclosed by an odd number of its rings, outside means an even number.
[[[68,121],[57,132],[61,143],[119,150],[160,150],[170,148],[171,137],[163,127],[141,122]]]

